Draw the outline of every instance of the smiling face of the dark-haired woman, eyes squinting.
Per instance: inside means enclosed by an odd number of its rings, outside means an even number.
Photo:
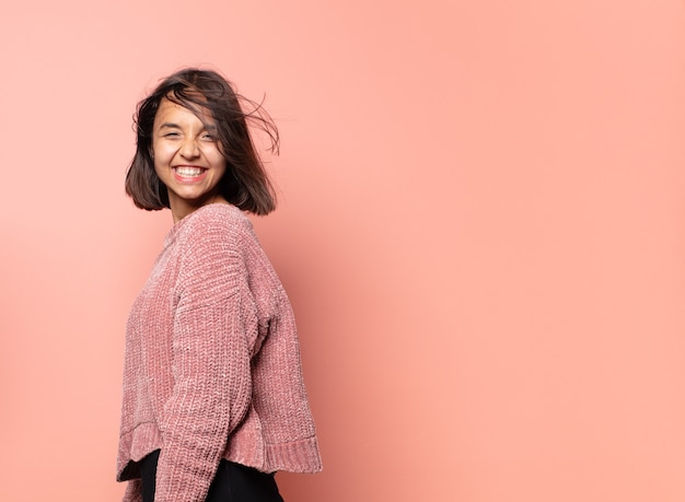
[[[210,202],[225,202],[219,182],[227,163],[211,116],[200,119],[163,98],[152,127],[154,171],[169,190],[174,221]]]

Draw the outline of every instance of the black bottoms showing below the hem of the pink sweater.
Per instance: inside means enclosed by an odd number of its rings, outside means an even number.
[[[154,479],[160,451],[140,460],[142,502],[154,502]],[[283,502],[272,474],[222,459],[205,502]]]

